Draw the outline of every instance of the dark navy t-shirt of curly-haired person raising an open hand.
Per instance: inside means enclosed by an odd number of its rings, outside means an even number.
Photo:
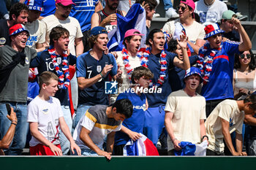
[[[194,65],[197,62],[198,56],[192,55],[189,57],[190,66]],[[177,66],[174,66],[173,69],[169,72],[170,86],[172,91],[177,91],[185,88],[184,77],[186,74],[186,70],[181,69]]]

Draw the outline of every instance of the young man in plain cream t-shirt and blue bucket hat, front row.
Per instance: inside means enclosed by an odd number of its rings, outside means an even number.
[[[176,151],[181,150],[181,141],[198,144],[208,139],[204,124],[206,98],[196,93],[200,82],[203,82],[200,69],[191,67],[184,76],[185,88],[170,93],[167,98],[165,128],[168,133],[168,155],[175,155]]]

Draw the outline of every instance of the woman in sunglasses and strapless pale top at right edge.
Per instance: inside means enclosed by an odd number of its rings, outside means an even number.
[[[255,55],[251,50],[244,51],[243,54],[235,55],[235,65],[233,72],[234,99],[242,100],[246,95],[253,93],[256,90],[256,69]],[[243,134],[245,134],[244,142],[248,155],[255,155],[255,129],[253,123],[256,120],[255,116],[245,115],[243,126]],[[244,131],[245,130],[245,131]],[[233,136],[234,138],[234,136]]]

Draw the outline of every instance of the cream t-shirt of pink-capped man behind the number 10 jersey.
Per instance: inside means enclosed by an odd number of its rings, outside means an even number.
[[[72,55],[75,53],[75,39],[83,37],[80,24],[77,19],[68,17],[66,20],[59,20],[55,15],[49,15],[42,19],[46,24],[46,42],[50,43],[50,31],[56,26],[63,26],[69,31],[69,50]]]

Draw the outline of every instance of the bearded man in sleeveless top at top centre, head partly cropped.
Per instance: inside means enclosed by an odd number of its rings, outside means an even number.
[[[117,10],[119,0],[105,1],[105,8],[91,16],[91,28],[94,28],[95,26],[102,26],[110,32],[113,28],[116,28],[116,14],[125,16],[127,13]]]

